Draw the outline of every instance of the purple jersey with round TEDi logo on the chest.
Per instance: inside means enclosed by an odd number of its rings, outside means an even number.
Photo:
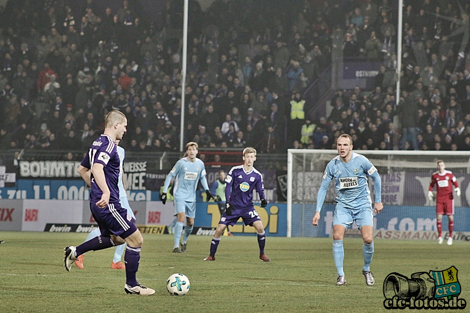
[[[232,167],[225,179],[225,195],[234,208],[253,206],[253,189],[256,189],[261,199],[264,199],[263,177],[254,167],[245,172],[243,165]],[[230,192],[230,188],[232,191]]]

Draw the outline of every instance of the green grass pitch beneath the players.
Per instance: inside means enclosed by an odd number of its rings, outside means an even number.
[[[144,235],[137,279],[156,293],[124,292],[125,271],[111,270],[114,248],[85,255],[85,269],[63,267],[63,247],[78,245],[86,234],[0,232],[0,312],[390,312],[384,309],[383,282],[392,273],[455,266],[460,298],[470,301],[469,244],[434,241],[375,241],[371,270],[376,283],[361,274],[362,241],[346,238],[346,286],[336,286],[330,238],[266,238],[270,263],[258,258],[256,236],[223,237],[213,262],[210,236],[192,235],[188,252],[172,253],[172,235]],[[191,288],[170,296],[168,276],[183,273]],[[406,309],[407,310],[407,309]],[[447,311],[447,310],[446,310]]]

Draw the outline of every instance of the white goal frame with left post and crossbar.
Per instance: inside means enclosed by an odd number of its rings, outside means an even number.
[[[382,164],[376,166],[399,166],[402,168],[436,168],[435,162],[422,162],[422,161],[406,161],[400,162],[390,160],[392,156],[428,156],[436,157],[438,159],[446,160],[446,167],[448,168],[466,168],[467,173],[470,173],[470,151],[408,151],[408,150],[353,150],[359,154],[376,155],[376,156],[389,156],[388,160],[383,160]],[[337,155],[334,149],[288,149],[287,150],[287,237],[292,235],[292,175],[293,175],[293,155],[296,154],[316,154],[321,157],[322,154],[328,155],[329,160],[331,155]],[[460,156],[468,157],[466,162],[452,162],[449,157]],[[325,156],[326,157],[326,156]],[[328,160],[328,161],[329,161]]]

